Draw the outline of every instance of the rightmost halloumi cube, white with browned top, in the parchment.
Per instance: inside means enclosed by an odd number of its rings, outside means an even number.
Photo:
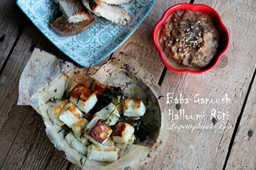
[[[125,116],[143,116],[146,112],[146,107],[139,99],[124,99],[123,115]]]

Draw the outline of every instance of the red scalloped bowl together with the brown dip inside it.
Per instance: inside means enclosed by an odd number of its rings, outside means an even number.
[[[164,65],[177,73],[211,70],[229,45],[229,33],[220,15],[201,4],[167,9],[155,26],[153,39]]]

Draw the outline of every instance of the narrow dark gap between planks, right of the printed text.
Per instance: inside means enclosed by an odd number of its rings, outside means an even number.
[[[223,170],[224,170],[224,169],[226,168],[226,166],[227,166],[227,161],[228,161],[228,158],[229,158],[229,155],[230,155],[230,152],[231,152],[233,143],[234,143],[234,138],[236,137],[236,134],[237,134],[237,131],[238,131],[238,127],[239,127],[239,124],[240,124],[240,121],[241,121],[241,118],[242,118],[242,115],[243,115],[243,112],[244,112],[244,108],[245,108],[245,105],[246,105],[246,103],[247,103],[248,96],[249,96],[249,93],[250,93],[250,90],[251,90],[251,86],[252,86],[252,83],[253,83],[253,81],[254,81],[255,76],[256,76],[256,68],[255,68],[254,73],[253,73],[253,75],[252,75],[251,82],[250,82],[250,84],[249,84],[249,87],[248,87],[248,90],[247,90],[247,93],[246,93],[246,96],[245,96],[245,100],[244,100],[244,103],[243,103],[243,106],[242,106],[242,110],[241,110],[241,112],[240,112],[240,114],[239,114],[239,116],[238,116],[236,125],[234,126],[234,131],[233,131],[233,134],[232,134],[230,143],[229,143],[227,156],[226,156],[226,159],[225,159],[225,163],[224,163],[224,165],[223,165]]]

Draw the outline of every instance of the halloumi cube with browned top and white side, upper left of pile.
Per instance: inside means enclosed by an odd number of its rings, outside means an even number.
[[[81,111],[88,113],[98,100],[95,92],[92,92],[88,87],[79,84],[70,93],[70,101]]]

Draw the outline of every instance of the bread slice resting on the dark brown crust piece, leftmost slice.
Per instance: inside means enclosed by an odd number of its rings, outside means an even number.
[[[88,20],[91,17],[87,9],[78,0],[58,0],[58,2],[59,9],[70,23]]]

